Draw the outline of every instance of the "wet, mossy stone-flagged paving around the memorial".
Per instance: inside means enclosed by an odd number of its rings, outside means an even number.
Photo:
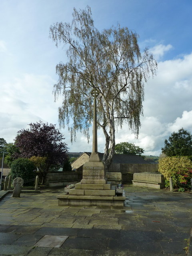
[[[126,202],[120,208],[58,206],[56,195],[63,190],[20,198],[7,194],[0,201],[0,256],[186,255],[192,194],[124,189]],[[45,236],[61,247],[46,247]]]

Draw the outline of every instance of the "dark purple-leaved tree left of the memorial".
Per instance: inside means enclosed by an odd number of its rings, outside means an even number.
[[[54,124],[48,125],[40,121],[29,126],[30,129],[18,131],[14,143],[18,151],[15,151],[12,157],[30,158],[39,168],[44,183],[48,170],[60,166],[67,158],[68,148]]]

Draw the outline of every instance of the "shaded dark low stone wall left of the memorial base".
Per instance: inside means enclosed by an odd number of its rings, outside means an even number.
[[[58,172],[58,173],[48,173],[46,175],[46,186],[66,186],[68,184],[77,183],[78,174],[77,172]]]

